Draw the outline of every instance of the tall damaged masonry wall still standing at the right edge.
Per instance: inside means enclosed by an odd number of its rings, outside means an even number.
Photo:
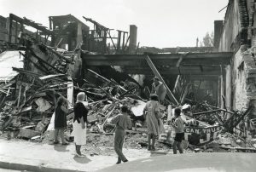
[[[230,0],[224,21],[215,21],[218,52],[233,52],[221,75],[221,106],[233,111],[253,106],[245,128],[255,135],[255,3]],[[251,136],[248,132],[247,136]]]

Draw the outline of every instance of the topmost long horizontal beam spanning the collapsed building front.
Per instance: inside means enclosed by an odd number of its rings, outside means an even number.
[[[232,52],[189,53],[181,61],[184,65],[230,65]],[[81,54],[87,66],[148,66],[145,54]],[[150,54],[155,66],[176,66],[183,54]]]

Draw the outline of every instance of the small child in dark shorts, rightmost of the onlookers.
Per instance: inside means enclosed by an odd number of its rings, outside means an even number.
[[[172,144],[172,149],[173,149],[173,154],[177,154],[177,149],[179,153],[183,153],[183,148],[181,146],[181,142],[184,138],[184,121],[180,116],[181,109],[176,108],[174,110],[174,116],[175,116],[175,121],[174,123],[171,123],[172,127],[175,129],[175,138],[174,142]]]

